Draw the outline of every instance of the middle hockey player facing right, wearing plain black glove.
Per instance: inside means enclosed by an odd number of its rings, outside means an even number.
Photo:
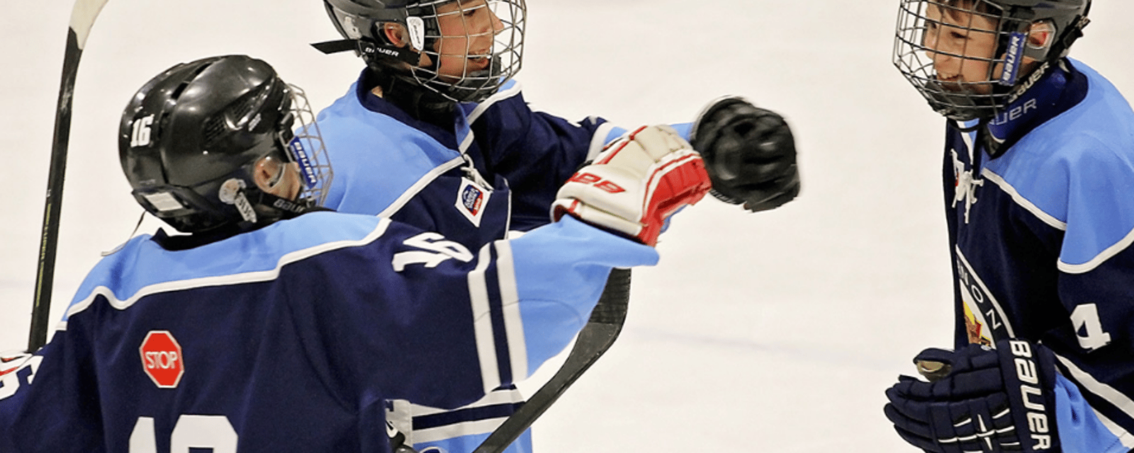
[[[315,46],[355,51],[366,63],[319,114],[338,170],[328,206],[340,212],[387,215],[479,248],[545,224],[559,186],[625,133],[600,118],[575,122],[528,108],[513,79],[524,0],[324,3],[342,40]],[[762,211],[798,194],[794,142],[780,116],[726,97],[692,127],[676,128],[686,138],[696,128],[692,142],[718,198]],[[521,402],[505,388],[447,414],[395,408],[413,418],[418,448],[457,452],[479,445]],[[509,452],[530,445],[525,434]]]

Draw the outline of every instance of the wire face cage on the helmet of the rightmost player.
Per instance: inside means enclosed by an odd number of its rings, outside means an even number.
[[[1024,57],[1016,22],[985,0],[903,0],[894,65],[938,113],[992,118],[1009,102]]]

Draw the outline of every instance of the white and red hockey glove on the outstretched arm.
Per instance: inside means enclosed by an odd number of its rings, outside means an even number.
[[[570,214],[654,246],[666,217],[712,187],[701,154],[669,126],[644,126],[615,140],[556,195],[551,217]]]

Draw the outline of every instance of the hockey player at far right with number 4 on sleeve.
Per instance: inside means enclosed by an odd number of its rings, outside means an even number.
[[[895,63],[947,118],[953,350],[885,412],[926,452],[1134,447],[1134,112],[1067,57],[1090,0],[902,0]]]

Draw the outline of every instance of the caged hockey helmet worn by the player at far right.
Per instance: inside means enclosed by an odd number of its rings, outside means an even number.
[[[992,118],[1067,55],[1090,9],[1091,0],[900,0],[894,65],[945,117]],[[1047,39],[1030,41],[1035,31]],[[993,48],[976,49],[981,40]],[[1024,58],[1038,62],[1030,72]]]

